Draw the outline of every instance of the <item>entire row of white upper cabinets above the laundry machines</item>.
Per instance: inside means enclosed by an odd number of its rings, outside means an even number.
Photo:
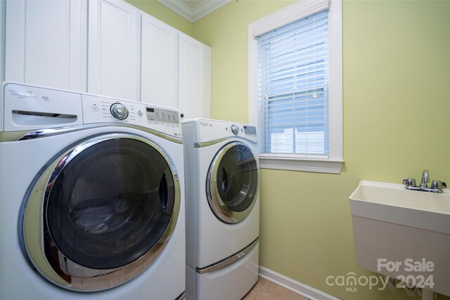
[[[0,0],[2,11],[5,80],[174,107],[185,119],[210,117],[211,48],[131,4]]]

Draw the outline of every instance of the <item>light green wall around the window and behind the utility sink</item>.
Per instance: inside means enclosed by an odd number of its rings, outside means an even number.
[[[232,1],[194,23],[212,47],[214,119],[248,121],[248,24],[292,3]],[[342,17],[345,164],[339,175],[261,170],[260,264],[346,300],[411,299],[325,279],[372,274],[354,263],[348,197],[361,179],[428,169],[450,183],[450,1],[344,1]]]

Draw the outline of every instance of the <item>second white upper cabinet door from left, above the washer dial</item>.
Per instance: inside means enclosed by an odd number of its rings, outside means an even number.
[[[89,1],[89,93],[139,100],[139,17],[122,0]]]

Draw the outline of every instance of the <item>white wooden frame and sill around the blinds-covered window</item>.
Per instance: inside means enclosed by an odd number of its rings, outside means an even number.
[[[340,174],[342,157],[342,0],[300,0],[248,26],[248,119],[258,124],[257,37],[328,7],[328,157],[260,153],[262,169],[284,169]]]

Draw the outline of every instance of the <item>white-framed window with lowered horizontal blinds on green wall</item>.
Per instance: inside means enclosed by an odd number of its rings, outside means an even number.
[[[340,173],[340,1],[302,0],[249,26],[249,119],[260,167]]]

